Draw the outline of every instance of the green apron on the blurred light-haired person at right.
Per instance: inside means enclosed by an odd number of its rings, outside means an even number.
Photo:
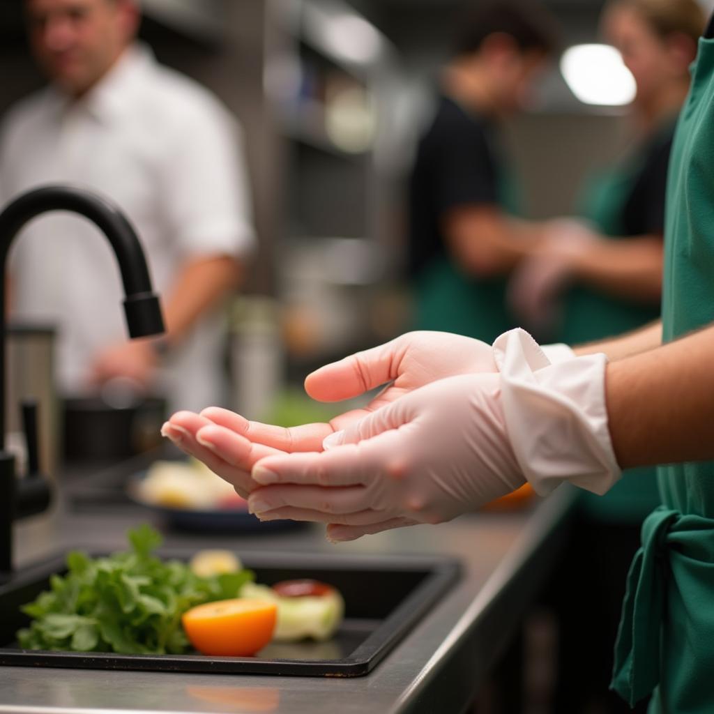
[[[660,130],[665,140],[671,121]],[[657,141],[655,136],[653,141]],[[586,186],[580,210],[602,236],[617,240],[626,231],[623,214],[635,181],[644,169],[645,154],[640,151],[615,169],[595,176]],[[588,286],[575,286],[563,310],[562,332],[558,341],[578,345],[631,332],[655,321],[660,306],[645,306],[610,296]],[[580,506],[596,521],[632,523],[637,526],[660,504],[654,468],[633,468],[605,496],[583,492]]]

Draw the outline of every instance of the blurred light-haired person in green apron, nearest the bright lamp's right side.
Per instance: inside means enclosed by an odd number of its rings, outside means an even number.
[[[670,151],[705,24],[695,0],[611,0],[605,6],[605,38],[620,50],[637,84],[631,108],[635,140],[620,164],[591,182],[583,201],[585,222],[551,223],[533,258],[518,268],[511,297],[535,333],[554,315],[558,298],[558,340],[571,345],[659,318]],[[608,694],[612,643],[640,527],[660,503],[654,476],[654,468],[632,469],[604,498],[580,494],[578,525],[555,588],[562,615],[558,712],[579,712],[588,703],[628,710]],[[583,651],[585,629],[589,645]]]

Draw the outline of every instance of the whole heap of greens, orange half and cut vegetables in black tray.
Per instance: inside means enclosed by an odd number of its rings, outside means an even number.
[[[149,526],[129,531],[129,543],[104,558],[69,553],[66,575],[22,608],[32,620],[17,633],[20,646],[247,656],[271,639],[327,640],[341,623],[342,596],[326,583],[258,585],[228,550],[199,551],[189,564],[161,560],[161,535]]]

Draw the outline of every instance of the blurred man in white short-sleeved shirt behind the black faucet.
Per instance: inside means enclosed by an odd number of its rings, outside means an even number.
[[[26,11],[51,84],[4,119],[0,203],[46,183],[117,203],[146,251],[167,333],[161,350],[126,339],[108,246],[62,213],[39,218],[15,243],[12,316],[59,327],[66,395],[129,378],[171,407],[225,401],[218,306],[256,242],[236,122],[136,42],[136,0],[26,0]]]

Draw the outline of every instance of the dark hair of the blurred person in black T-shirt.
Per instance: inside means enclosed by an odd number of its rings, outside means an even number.
[[[481,0],[462,16],[459,26],[456,56],[478,52],[497,33],[511,37],[522,52],[553,54],[559,46],[555,18],[543,6],[525,0]]]

